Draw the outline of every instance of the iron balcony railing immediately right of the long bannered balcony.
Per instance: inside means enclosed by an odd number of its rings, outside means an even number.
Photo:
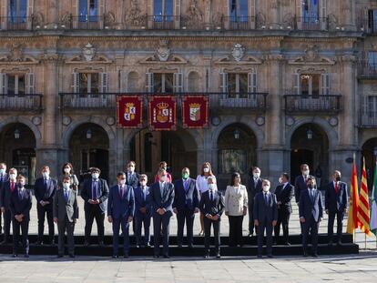
[[[338,113],[341,111],[341,96],[284,96],[287,113]]]

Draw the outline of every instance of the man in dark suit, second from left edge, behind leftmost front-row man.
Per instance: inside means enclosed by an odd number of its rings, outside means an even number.
[[[0,207],[4,216],[4,240],[2,244],[10,241],[10,225],[12,222],[12,215],[10,211],[10,198],[12,193],[17,188],[17,170],[15,168],[9,169],[9,178],[3,183],[3,187],[0,187]]]

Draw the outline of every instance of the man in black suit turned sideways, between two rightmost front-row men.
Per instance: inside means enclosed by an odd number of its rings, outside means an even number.
[[[281,184],[276,187],[275,195],[278,202],[278,223],[275,226],[275,243],[278,241],[280,234],[280,225],[283,230],[283,243],[290,246],[289,238],[289,222],[292,206],[290,200],[294,196],[294,187],[290,185],[290,176],[283,173],[280,176]]]

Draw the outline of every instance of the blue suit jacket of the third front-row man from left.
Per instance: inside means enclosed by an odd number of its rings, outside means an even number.
[[[107,216],[115,219],[134,217],[135,196],[134,188],[125,185],[123,196],[120,198],[119,186],[110,187],[108,194]]]

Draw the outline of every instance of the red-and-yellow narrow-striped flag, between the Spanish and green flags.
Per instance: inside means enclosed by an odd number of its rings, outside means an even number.
[[[360,221],[360,228],[362,229],[362,232],[364,232],[368,236],[371,236],[371,228],[369,227],[369,213],[370,208],[368,197],[368,183],[365,170],[365,158],[362,158],[362,184],[360,187],[358,218]]]

